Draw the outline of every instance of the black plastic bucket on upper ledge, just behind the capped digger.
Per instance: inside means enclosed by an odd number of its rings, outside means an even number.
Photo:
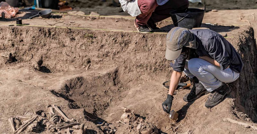
[[[201,27],[205,11],[198,8],[179,9],[170,12],[173,24],[176,27],[192,29]]]

